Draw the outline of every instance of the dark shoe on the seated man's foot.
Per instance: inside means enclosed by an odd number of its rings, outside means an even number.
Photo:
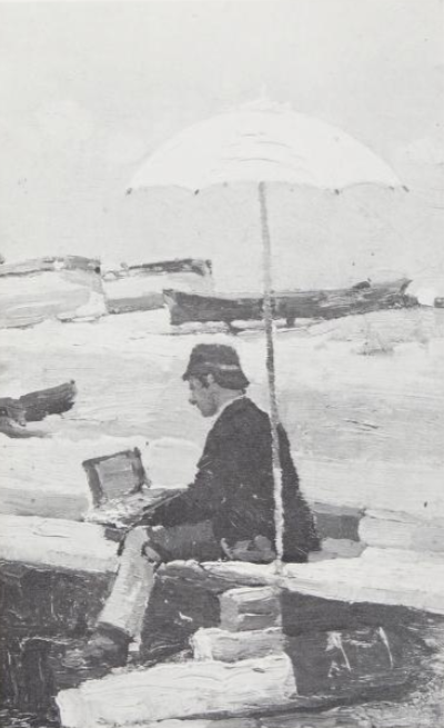
[[[130,641],[120,629],[100,625],[84,647],[64,654],[61,666],[82,679],[103,677],[112,668],[127,665]]]

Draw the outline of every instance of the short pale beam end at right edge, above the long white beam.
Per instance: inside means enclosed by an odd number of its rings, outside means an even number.
[[[408,513],[369,511],[359,532],[369,546],[444,552],[444,518],[425,520]]]

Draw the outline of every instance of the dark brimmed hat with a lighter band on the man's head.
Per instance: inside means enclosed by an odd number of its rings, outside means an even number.
[[[242,371],[236,350],[223,343],[198,343],[194,347],[182,379],[202,375],[213,375],[224,389],[245,389],[250,383]]]

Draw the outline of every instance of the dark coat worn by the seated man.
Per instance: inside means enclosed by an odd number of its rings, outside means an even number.
[[[284,559],[305,561],[319,549],[313,518],[300,489],[289,438],[279,427],[283,472]],[[215,538],[232,546],[265,536],[274,543],[274,499],[269,416],[246,397],[235,399],[210,430],[194,482],[160,506],[150,523],[211,520]]]

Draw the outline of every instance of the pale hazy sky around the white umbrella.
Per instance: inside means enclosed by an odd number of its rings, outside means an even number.
[[[0,252],[205,255],[222,287],[250,286],[254,190],[124,192],[171,136],[266,96],[369,144],[411,190],[278,186],[284,282],[444,276],[443,49],[440,0],[1,2]]]

